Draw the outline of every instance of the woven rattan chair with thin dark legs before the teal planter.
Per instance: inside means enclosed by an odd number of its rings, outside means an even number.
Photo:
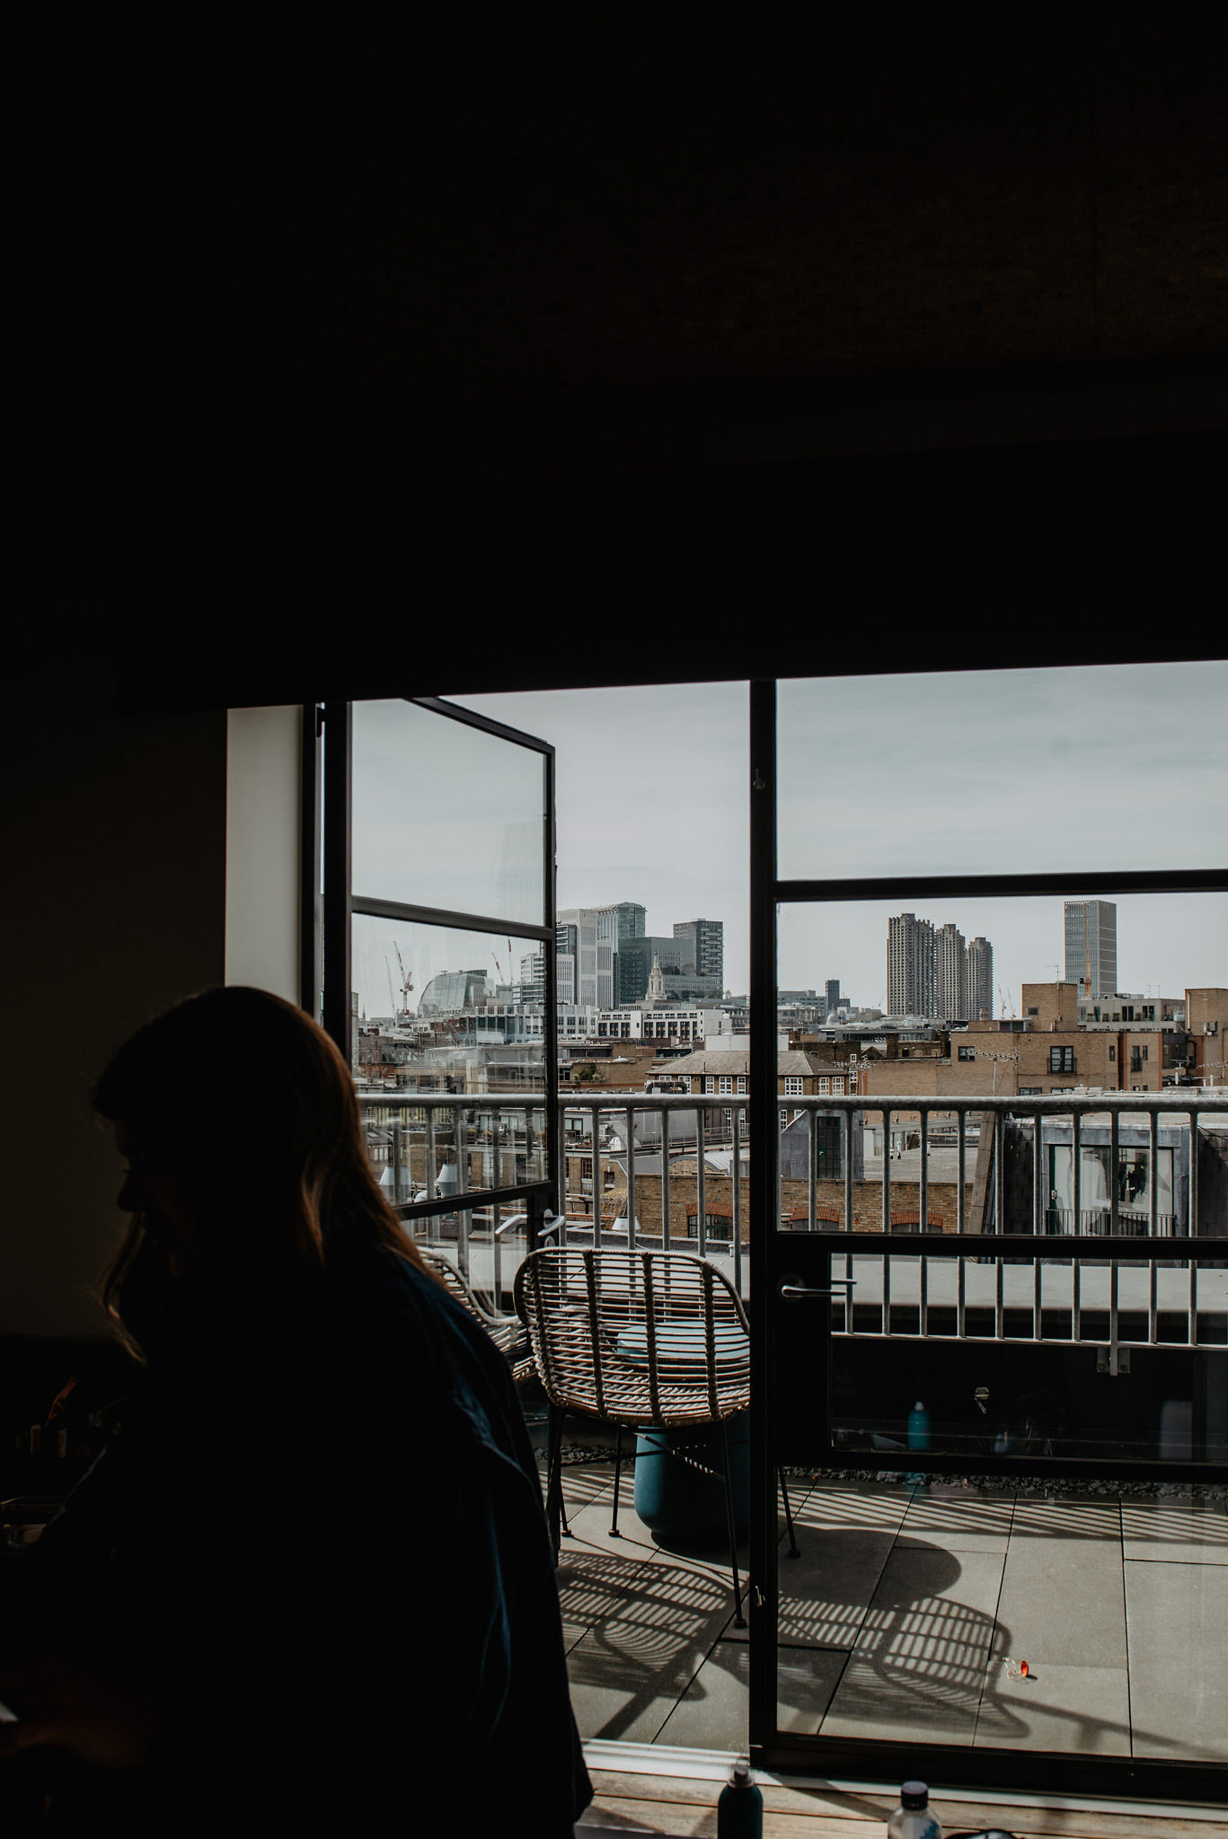
[[[744,1628],[729,1420],[749,1407],[751,1341],[742,1298],[729,1278],[689,1252],[567,1247],[530,1252],[516,1273],[514,1295],[550,1403],[547,1510],[554,1552],[569,1532],[562,1490],[567,1412],[617,1429],[609,1528],[615,1537],[622,1431],[720,1425],[735,1618]],[[797,1556],[788,1493],[784,1517],[790,1556]]]

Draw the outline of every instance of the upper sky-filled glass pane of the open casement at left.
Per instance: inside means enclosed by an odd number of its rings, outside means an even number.
[[[536,748],[355,702],[353,892],[545,925],[545,785]]]

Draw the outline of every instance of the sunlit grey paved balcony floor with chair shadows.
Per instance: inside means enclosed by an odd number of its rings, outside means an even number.
[[[611,1462],[563,1468],[573,1536],[558,1580],[580,1734],[744,1747],[749,1648],[727,1547],[657,1543],[626,1471],[611,1537]],[[790,1497],[781,1729],[1228,1760],[1222,1502],[830,1479],[792,1482]]]

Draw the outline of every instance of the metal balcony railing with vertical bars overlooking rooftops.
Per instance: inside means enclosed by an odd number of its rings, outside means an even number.
[[[407,1225],[429,1243],[449,1245],[473,1287],[490,1293],[495,1308],[506,1306],[528,1249],[525,1203],[506,1190],[545,1181],[545,1102],[377,1092],[361,1094],[361,1103],[372,1160],[383,1159],[385,1188],[403,1214],[444,1194],[468,1201],[444,1217],[407,1217]],[[580,1245],[698,1251],[746,1295],[747,1103],[724,1092],[560,1096],[554,1234]],[[781,1227],[856,1236],[856,1245],[832,1258],[832,1274],[841,1263],[852,1284],[832,1302],[836,1333],[1112,1346],[1228,1341],[1228,1219],[1206,1214],[1199,1179],[1199,1122],[1219,1114],[1228,1127],[1228,1094],[1222,1102],[1213,1089],[941,1100],[821,1094],[781,1098],[779,1111],[794,1129],[797,1116],[808,1118],[805,1201],[794,1195],[782,1205]],[[819,1170],[821,1118],[828,1149],[830,1120],[838,1122],[834,1182]],[[897,1125],[909,1120],[919,1146],[902,1160],[889,1153],[865,1159],[862,1129],[880,1131],[889,1146],[893,1118]],[[464,1155],[457,1155],[458,1129]],[[1068,1153],[1070,1195],[1051,1192],[1053,1148]],[[1156,1179],[1162,1149],[1173,1153],[1173,1192],[1164,1197]],[[1092,1205],[1083,1194],[1084,1151],[1099,1153],[1099,1166],[1110,1171],[1106,1192]],[[1132,1159],[1136,1179],[1140,1153],[1149,1171],[1145,1194],[1123,1199],[1121,1171]],[[948,1164],[941,1177],[935,1157]],[[582,1159],[593,1173],[580,1173]],[[471,1179],[473,1164],[482,1170],[481,1186]],[[622,1170],[613,1190],[606,1184],[611,1166]],[[954,1208],[935,1208],[939,1181],[956,1188]],[[493,1197],[493,1190],[504,1195]],[[729,1206],[727,1227],[709,1201]],[[1222,1201],[1215,1205],[1222,1208]],[[889,1247],[867,1249],[867,1212]],[[714,1230],[712,1217],[725,1230]],[[1003,1225],[1011,1245],[996,1251]],[[909,1251],[909,1238],[922,1230],[926,1249]],[[950,1249],[933,1249],[939,1230]],[[1020,1256],[1020,1234],[1035,1238],[1035,1252]],[[1224,1258],[1206,1258],[1208,1239],[1221,1236]],[[1072,1258],[1083,1239],[1097,1241],[1095,1251]],[[1200,1260],[1182,1256],[1182,1241],[1191,1239],[1204,1249]]]

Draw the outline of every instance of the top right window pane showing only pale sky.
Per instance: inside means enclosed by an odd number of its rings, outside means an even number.
[[[777,719],[784,881],[1228,862],[1222,660],[792,679]]]

